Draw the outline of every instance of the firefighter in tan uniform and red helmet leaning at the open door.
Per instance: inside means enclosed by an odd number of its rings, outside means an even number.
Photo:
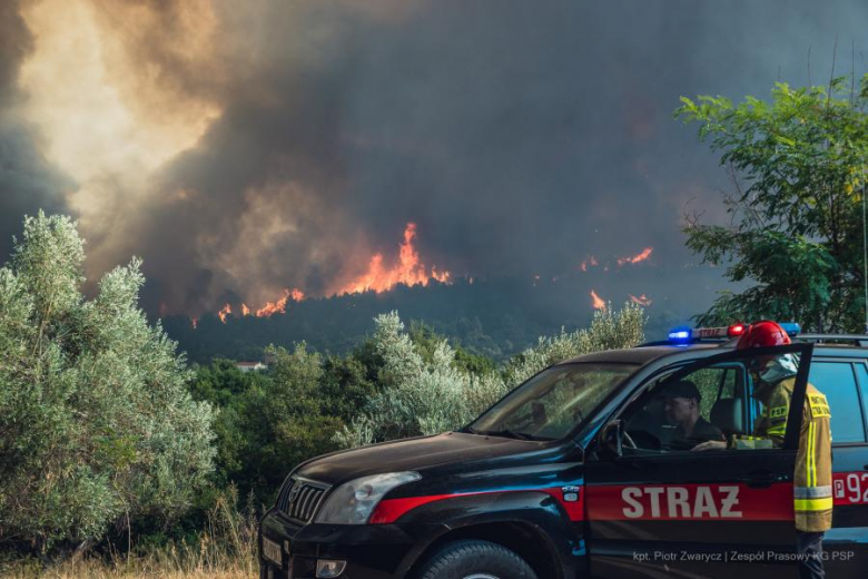
[[[739,340],[737,349],[790,343],[783,328],[775,322],[763,321],[748,328]],[[703,442],[693,450],[778,448],[783,444],[798,364],[792,354],[785,354],[759,356],[752,365],[751,371],[757,379],[753,398],[763,406],[753,436],[730,436],[727,443]],[[799,577],[802,579],[826,577],[822,566],[822,538],[831,528],[832,514],[830,418],[826,396],[808,384],[793,475]]]

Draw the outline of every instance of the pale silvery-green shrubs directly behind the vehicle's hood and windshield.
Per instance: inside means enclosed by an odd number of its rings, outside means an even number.
[[[462,365],[446,340],[414,343],[397,312],[375,320],[374,344],[383,359],[383,391],[364,413],[336,436],[343,446],[420,434],[467,424],[512,387],[544,367],[576,355],[634,346],[643,340],[644,312],[627,304],[598,312],[588,330],[541,337],[502,372],[474,373]]]

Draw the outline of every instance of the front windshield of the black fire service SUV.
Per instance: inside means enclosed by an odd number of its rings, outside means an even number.
[[[634,370],[632,364],[553,366],[513,390],[466,432],[521,440],[566,436]]]

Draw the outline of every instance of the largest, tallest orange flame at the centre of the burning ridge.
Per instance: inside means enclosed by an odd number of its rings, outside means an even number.
[[[448,283],[452,275],[450,272],[437,272],[436,267],[432,267],[428,273],[413,245],[415,238],[416,224],[408,223],[404,229],[404,243],[401,244],[397,264],[387,268],[383,265],[383,254],[374,254],[367,265],[367,272],[344,285],[336,294],[357,294],[368,291],[379,294],[398,284],[426,286],[432,279]]]

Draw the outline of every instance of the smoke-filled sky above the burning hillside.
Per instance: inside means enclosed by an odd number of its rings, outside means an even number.
[[[167,313],[326,295],[408,222],[453,275],[678,268],[728,183],[679,96],[828,81],[836,39],[865,72],[868,2],[3,0],[0,261],[43,207]]]

